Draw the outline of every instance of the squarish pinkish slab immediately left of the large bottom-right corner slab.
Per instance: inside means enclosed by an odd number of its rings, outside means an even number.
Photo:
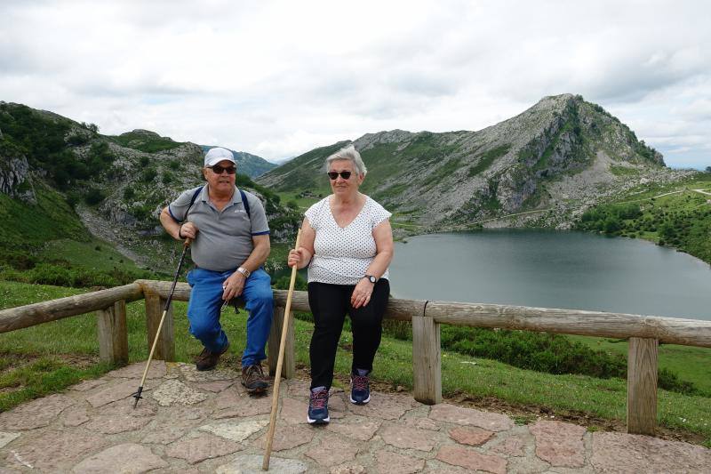
[[[579,468],[585,464],[582,426],[564,422],[535,422],[529,427],[536,438],[536,455],[555,467]]]

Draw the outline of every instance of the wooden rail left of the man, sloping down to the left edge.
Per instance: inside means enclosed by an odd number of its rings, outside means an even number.
[[[22,329],[31,325],[39,325],[76,316],[100,309],[107,309],[116,301],[136,301],[143,298],[140,285],[116,286],[98,292],[76,294],[59,300],[43,301],[17,308],[0,311],[0,333]]]

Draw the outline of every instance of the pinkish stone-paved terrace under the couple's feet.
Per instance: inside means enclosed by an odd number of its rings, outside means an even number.
[[[0,472],[263,472],[271,397],[251,398],[229,370],[143,364],[0,414]],[[504,414],[373,393],[332,393],[332,422],[306,422],[308,383],[284,381],[271,472],[711,472],[711,450],[587,432],[564,422],[516,425]]]

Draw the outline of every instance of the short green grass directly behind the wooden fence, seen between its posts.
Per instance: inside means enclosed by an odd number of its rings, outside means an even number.
[[[76,293],[81,291],[0,281],[0,308]],[[127,306],[127,310],[129,358],[132,362],[145,360],[148,357],[148,344],[143,302],[132,302]],[[176,301],[175,349],[179,361],[190,362],[201,347],[199,342],[188,335],[186,310],[187,303]],[[236,315],[234,310],[226,309],[223,313],[222,322],[234,348],[224,359],[225,365],[236,366],[238,362],[238,353],[244,347],[245,319],[244,311]],[[296,359],[300,366],[308,366],[308,343],[312,331],[313,325],[310,323],[299,319],[295,321]],[[98,341],[93,336],[95,333],[96,318],[93,315],[84,315],[0,334],[0,367],[5,365],[2,381],[6,381],[4,383],[8,386],[21,386],[19,390],[0,392],[0,410],[52,391],[63,390],[70,383],[96,377],[108,371],[110,367],[98,363],[77,368],[61,362],[62,356],[97,360],[99,348]],[[344,331],[336,359],[336,378],[341,382],[334,383],[336,386],[342,386],[345,383],[343,381],[347,380],[351,356],[346,348],[352,341],[351,333]],[[621,346],[615,346],[615,349],[618,348]],[[675,349],[675,347],[662,346],[663,352],[667,353],[667,349]],[[18,354],[33,358],[33,362],[23,367],[12,367],[12,358],[9,355]],[[695,369],[699,373],[707,366],[707,361],[699,361],[693,350],[678,352],[670,350],[665,357],[669,360],[678,358],[674,364],[680,366],[699,366]],[[522,406],[545,406],[555,414],[585,413],[603,419],[625,420],[627,382],[623,380],[603,380],[583,375],[541,374],[448,351],[443,351],[442,361],[442,385],[445,397],[462,394],[475,399],[494,397]],[[402,386],[411,390],[411,343],[383,338],[375,360],[373,378],[393,388]],[[40,382],[30,384],[31,380]],[[31,388],[28,388],[30,385]],[[24,391],[18,394],[20,390]],[[711,443],[710,402],[711,400],[706,397],[685,396],[659,390],[658,422],[667,428],[697,433],[707,438],[706,443]]]

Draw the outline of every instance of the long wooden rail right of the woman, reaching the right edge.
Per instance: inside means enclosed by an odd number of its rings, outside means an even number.
[[[500,327],[620,339],[640,337],[658,339],[659,342],[667,344],[711,347],[711,321],[699,319],[449,301],[428,301],[425,316],[433,317],[437,323],[448,325]]]

